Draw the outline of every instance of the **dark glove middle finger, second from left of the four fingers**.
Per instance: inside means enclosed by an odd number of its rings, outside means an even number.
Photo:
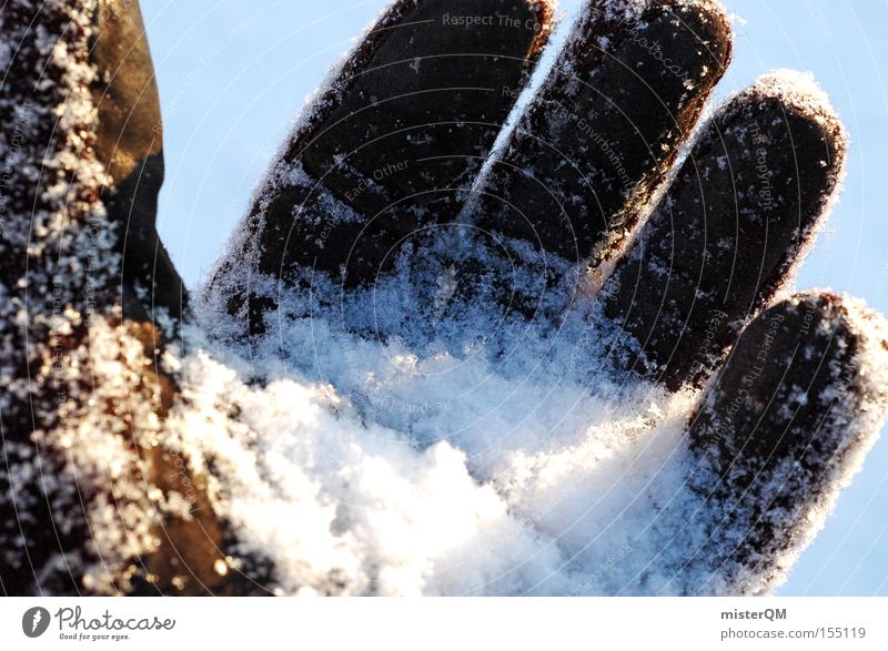
[[[716,2],[589,2],[480,184],[474,225],[516,240],[518,257],[527,243],[597,267],[663,181],[730,52]]]

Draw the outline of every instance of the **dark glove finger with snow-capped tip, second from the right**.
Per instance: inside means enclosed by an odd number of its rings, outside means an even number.
[[[764,77],[718,111],[608,281],[628,367],[672,389],[706,379],[791,279],[846,148],[828,100],[797,73]]]

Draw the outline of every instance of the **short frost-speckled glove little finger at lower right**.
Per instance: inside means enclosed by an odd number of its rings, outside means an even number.
[[[743,333],[688,430],[699,592],[780,582],[860,467],[888,408],[888,324],[854,299],[794,296]],[[697,530],[698,529],[698,530]]]

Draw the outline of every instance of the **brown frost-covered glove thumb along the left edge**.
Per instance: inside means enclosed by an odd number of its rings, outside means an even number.
[[[215,586],[224,530],[161,440],[184,296],[139,6],[4,2],[0,69],[0,591]]]

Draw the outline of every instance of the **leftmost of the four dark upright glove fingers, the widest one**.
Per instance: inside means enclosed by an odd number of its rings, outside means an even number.
[[[261,330],[278,278],[314,268],[371,283],[402,238],[453,220],[515,102],[503,89],[527,81],[551,23],[548,0],[394,2],[305,112],[235,234],[211,287],[223,309]]]

